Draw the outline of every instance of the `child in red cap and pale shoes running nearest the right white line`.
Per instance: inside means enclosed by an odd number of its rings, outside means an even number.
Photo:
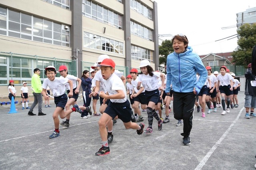
[[[218,80],[216,90],[220,92],[221,104],[223,108],[221,115],[226,115],[226,113],[230,113],[230,95],[231,91],[233,91],[233,77],[229,73],[226,73],[226,69],[226,66],[221,66],[220,74],[216,78]],[[227,110],[225,108],[225,95],[227,98]]]

